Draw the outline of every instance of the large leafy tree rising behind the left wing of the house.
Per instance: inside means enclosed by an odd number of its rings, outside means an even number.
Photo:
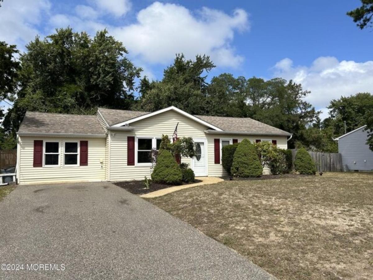
[[[126,109],[134,100],[137,68],[123,44],[98,31],[94,38],[71,28],[36,37],[20,57],[18,99],[4,127],[18,130],[26,111],[94,113],[98,106]]]

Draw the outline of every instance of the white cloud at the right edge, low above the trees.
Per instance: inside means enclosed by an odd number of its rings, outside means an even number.
[[[330,100],[341,96],[373,92],[373,61],[339,61],[335,57],[322,56],[310,66],[294,66],[291,59],[285,58],[273,69],[277,77],[292,79],[310,90],[306,99],[316,108],[325,109]]]

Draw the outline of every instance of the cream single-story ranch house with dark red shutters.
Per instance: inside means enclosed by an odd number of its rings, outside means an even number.
[[[142,180],[150,176],[150,150],[177,124],[178,137],[195,142],[197,156],[181,161],[196,176],[228,175],[224,145],[248,138],[287,149],[292,136],[254,119],[194,116],[173,106],[152,113],[99,108],[95,116],[27,112],[17,133],[17,181]]]

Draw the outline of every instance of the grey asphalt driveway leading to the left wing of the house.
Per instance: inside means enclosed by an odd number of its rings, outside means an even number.
[[[0,270],[1,279],[272,277],[107,182],[16,187],[0,201],[0,264],[23,264]]]

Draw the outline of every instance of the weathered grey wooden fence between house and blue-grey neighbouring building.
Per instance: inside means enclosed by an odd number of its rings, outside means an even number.
[[[293,169],[297,149],[291,149],[293,156]],[[318,172],[342,172],[342,155],[340,153],[308,152],[316,164]]]

